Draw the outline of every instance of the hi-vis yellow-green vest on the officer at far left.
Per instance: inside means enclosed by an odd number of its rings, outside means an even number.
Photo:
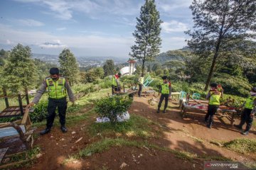
[[[65,79],[60,77],[57,81],[53,81],[50,77],[46,79],[49,98],[64,98],[67,96],[65,89]]]

